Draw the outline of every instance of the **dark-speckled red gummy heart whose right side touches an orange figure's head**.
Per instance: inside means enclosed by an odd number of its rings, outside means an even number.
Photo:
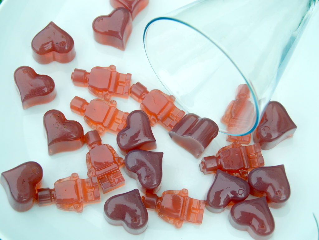
[[[59,110],[49,110],[43,116],[48,137],[49,155],[73,151],[84,144],[83,127],[77,121],[66,120]]]

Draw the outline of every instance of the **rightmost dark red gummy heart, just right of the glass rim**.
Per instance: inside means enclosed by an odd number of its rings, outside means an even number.
[[[271,101],[254,132],[254,142],[259,142],[261,149],[268,150],[293,136],[296,129],[296,124],[291,120],[284,106]]]

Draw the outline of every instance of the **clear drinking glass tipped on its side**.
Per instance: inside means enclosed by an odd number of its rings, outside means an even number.
[[[257,127],[317,2],[199,0],[146,25],[146,55],[184,111],[211,118],[220,132],[246,135]],[[240,84],[249,87],[251,109],[241,111],[238,103],[230,116],[241,127],[234,129],[221,118]]]

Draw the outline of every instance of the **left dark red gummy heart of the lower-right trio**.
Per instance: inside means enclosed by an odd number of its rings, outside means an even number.
[[[231,202],[243,201],[248,195],[249,184],[245,180],[217,170],[207,193],[206,208],[213,213],[219,213]]]

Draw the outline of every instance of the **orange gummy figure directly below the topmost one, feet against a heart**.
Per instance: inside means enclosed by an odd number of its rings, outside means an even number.
[[[116,107],[116,101],[103,101],[93,99],[88,103],[85,99],[74,97],[70,102],[71,111],[84,115],[85,122],[97,130],[100,135],[105,131],[117,133],[126,126],[127,112],[122,112]]]

